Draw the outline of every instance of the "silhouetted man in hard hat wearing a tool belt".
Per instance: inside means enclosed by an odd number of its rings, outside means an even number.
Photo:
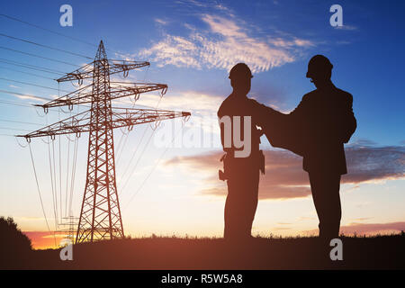
[[[220,105],[220,138],[226,155],[224,172],[220,179],[227,180],[228,196],[225,202],[224,238],[251,237],[252,223],[257,209],[259,170],[264,173],[265,159],[259,150],[261,130],[253,112],[258,103],[247,98],[252,73],[244,63],[238,63],[229,72],[232,94]]]

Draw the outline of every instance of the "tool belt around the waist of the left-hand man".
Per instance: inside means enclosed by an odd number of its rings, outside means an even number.
[[[225,153],[224,155],[222,155],[222,157],[220,157],[220,162],[223,162],[223,171],[218,171],[220,180],[229,180],[229,176],[232,170],[231,167],[243,165],[242,161],[246,161],[246,163],[250,162],[254,165],[257,165],[257,169],[259,169],[263,175],[265,174],[265,154],[263,153],[263,150],[258,150],[257,152],[250,155],[250,157],[246,158],[236,158],[229,153]],[[255,167],[253,166],[253,168]]]

